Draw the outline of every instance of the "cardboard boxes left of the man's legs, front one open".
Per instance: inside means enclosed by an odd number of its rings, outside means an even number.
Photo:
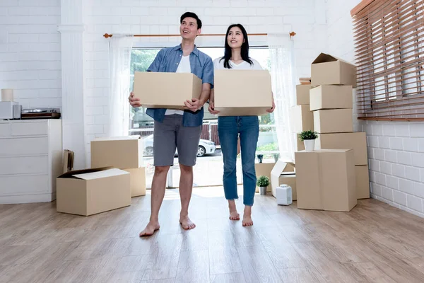
[[[57,212],[92,215],[131,205],[146,195],[139,136],[91,141],[90,169],[69,171],[57,178]]]

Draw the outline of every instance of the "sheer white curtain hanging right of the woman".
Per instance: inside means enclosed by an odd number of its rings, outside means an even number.
[[[276,110],[276,132],[280,159],[294,161],[295,134],[289,111],[295,104],[295,62],[293,40],[288,34],[269,33],[269,57],[271,61],[271,79]]]

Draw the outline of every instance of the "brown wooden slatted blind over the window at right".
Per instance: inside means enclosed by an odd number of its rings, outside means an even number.
[[[351,13],[358,119],[424,120],[424,0],[367,0]]]

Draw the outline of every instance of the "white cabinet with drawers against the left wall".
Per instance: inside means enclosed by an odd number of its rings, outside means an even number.
[[[0,120],[0,204],[56,200],[61,137],[60,119]]]

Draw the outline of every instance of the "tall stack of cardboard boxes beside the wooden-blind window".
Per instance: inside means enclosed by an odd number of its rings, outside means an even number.
[[[370,196],[365,133],[353,132],[356,69],[320,54],[311,73],[310,111],[319,138],[315,151],[295,153],[298,208],[348,212]]]

